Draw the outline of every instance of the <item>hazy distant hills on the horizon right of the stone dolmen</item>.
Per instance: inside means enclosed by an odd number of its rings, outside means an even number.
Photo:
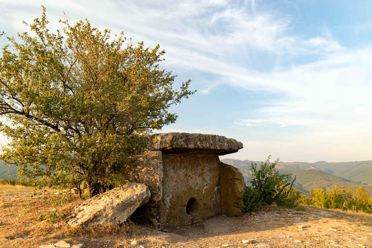
[[[260,161],[223,159],[225,164],[237,167],[244,176],[244,180],[251,178],[251,162],[259,167]],[[372,161],[337,162],[326,161],[310,162],[278,162],[276,168],[280,173],[292,176],[297,175],[294,186],[302,194],[309,195],[313,189],[327,189],[335,185],[346,186],[356,192],[356,188],[363,186],[366,192],[372,196]],[[360,171],[359,171],[360,170]]]

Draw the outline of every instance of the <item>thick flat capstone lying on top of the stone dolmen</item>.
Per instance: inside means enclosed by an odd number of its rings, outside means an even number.
[[[157,133],[148,137],[150,151],[174,154],[225,155],[243,148],[241,142],[225,136],[201,133]]]

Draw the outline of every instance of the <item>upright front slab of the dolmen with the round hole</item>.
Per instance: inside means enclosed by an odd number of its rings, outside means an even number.
[[[158,227],[190,225],[221,214],[217,156],[163,154],[163,166]]]

